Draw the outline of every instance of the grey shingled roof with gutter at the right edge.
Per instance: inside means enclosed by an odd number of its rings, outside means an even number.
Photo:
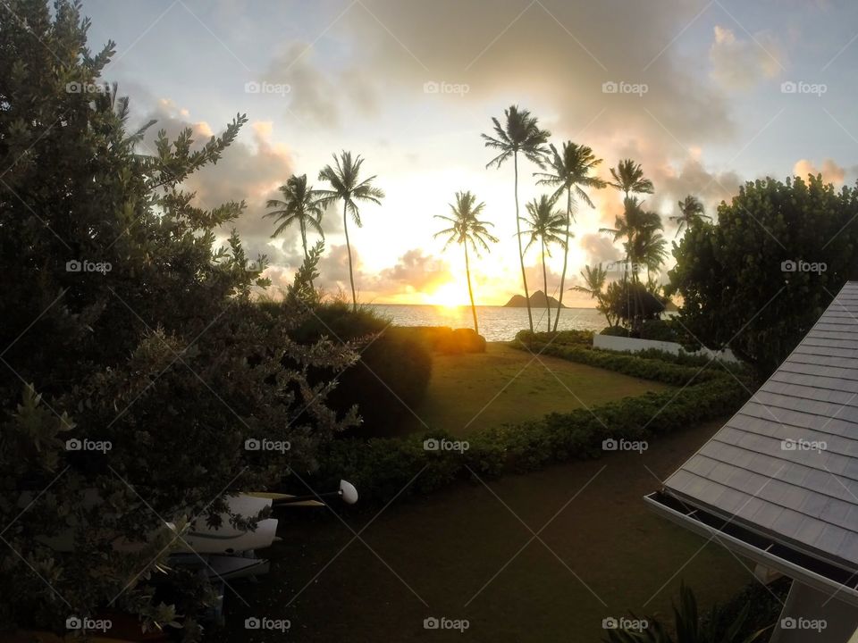
[[[858,282],[647,499],[837,584],[858,571]]]

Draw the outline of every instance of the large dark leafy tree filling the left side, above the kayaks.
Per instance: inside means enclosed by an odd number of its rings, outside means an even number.
[[[249,263],[234,232],[214,244],[243,203],[203,210],[181,188],[245,116],[140,149],[145,129],[126,129],[127,99],[99,79],[114,45],[90,53],[79,4],[10,0],[0,15],[0,585],[15,589],[0,627],[64,630],[110,605],[198,639],[213,593],[167,556],[194,518],[223,522],[227,494],[315,467],[356,417],[332,413],[332,383],[307,372],[357,357],[291,341],[303,306],[261,313],[265,257]],[[60,535],[71,552],[48,547]],[[164,583],[172,605],[153,602]]]

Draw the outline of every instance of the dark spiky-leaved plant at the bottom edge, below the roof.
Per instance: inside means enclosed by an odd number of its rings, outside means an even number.
[[[656,619],[646,619],[647,627],[640,630],[608,630],[605,643],[753,643],[771,629],[764,628],[742,637],[751,604],[745,603],[736,619],[726,627],[719,626],[718,605],[711,609],[709,618],[701,619],[694,592],[685,584],[679,588],[679,605],[673,605],[673,625],[666,626]],[[632,616],[635,621],[644,621]]]

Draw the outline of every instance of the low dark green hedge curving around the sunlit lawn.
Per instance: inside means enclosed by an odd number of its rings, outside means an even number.
[[[585,359],[575,347],[550,347],[557,355]],[[340,477],[357,485],[368,505],[385,503],[400,494],[428,493],[453,480],[467,479],[470,471],[482,476],[533,471],[550,463],[601,455],[608,438],[649,440],[699,422],[723,417],[746,399],[744,387],[731,375],[644,359],[633,355],[584,351],[593,365],[637,377],[685,385],[599,405],[592,410],[549,413],[542,419],[506,424],[467,437],[467,450],[426,450],[426,439],[455,439],[443,431],[404,438],[336,440],[320,455],[323,469],[318,488],[335,486]],[[450,444],[455,447],[455,444]],[[419,475],[418,475],[419,473]],[[412,481],[413,480],[413,481]]]

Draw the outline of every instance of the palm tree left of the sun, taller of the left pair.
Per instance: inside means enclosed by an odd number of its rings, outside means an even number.
[[[325,165],[319,172],[319,180],[326,180],[332,189],[318,190],[319,204],[328,205],[337,200],[342,200],[342,229],[346,233],[346,249],[349,251],[349,282],[351,283],[352,309],[357,311],[357,294],[355,292],[355,275],[351,264],[351,244],[349,243],[349,213],[358,228],[360,222],[360,210],[358,202],[369,201],[375,205],[381,205],[384,192],[381,188],[372,185],[375,175],[369,179],[358,180],[360,166],[364,159],[360,154],[352,159],[351,152],[343,151],[340,156],[333,155],[334,167]]]

